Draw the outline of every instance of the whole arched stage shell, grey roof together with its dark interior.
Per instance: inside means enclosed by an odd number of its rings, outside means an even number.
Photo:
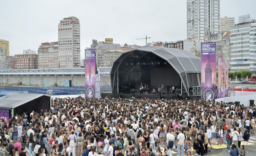
[[[143,46],[122,53],[110,74],[112,93],[120,86],[139,89],[140,84],[163,83],[179,86],[189,96],[189,88],[201,85],[201,60],[185,50]]]

